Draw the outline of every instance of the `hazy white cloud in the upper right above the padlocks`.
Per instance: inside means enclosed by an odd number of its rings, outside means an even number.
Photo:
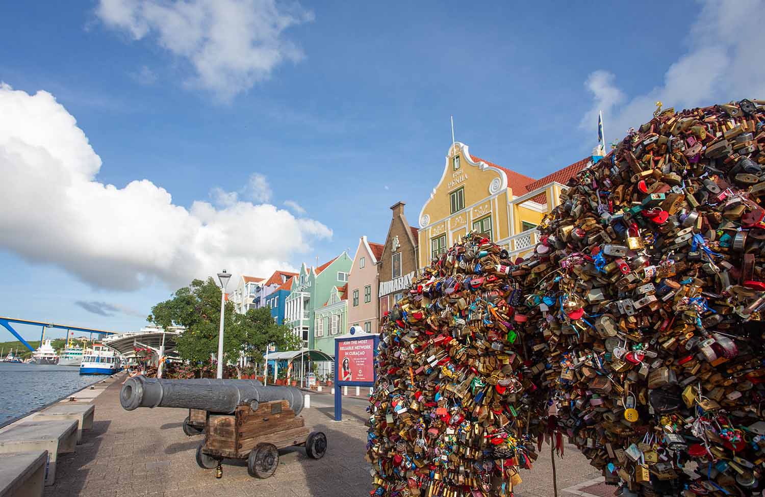
[[[649,120],[661,101],[664,108],[692,109],[765,95],[765,1],[703,2],[687,34],[689,49],[672,63],[662,83],[627,99],[617,76],[605,70],[590,74],[585,87],[593,105],[581,127],[594,130],[603,110],[607,141],[620,140],[630,127]],[[682,34],[675,36],[682,40]]]

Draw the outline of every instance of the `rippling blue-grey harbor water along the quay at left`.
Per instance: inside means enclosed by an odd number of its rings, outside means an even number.
[[[0,427],[103,378],[73,366],[0,362]]]

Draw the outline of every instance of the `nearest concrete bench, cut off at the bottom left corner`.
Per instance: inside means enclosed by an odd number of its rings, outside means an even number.
[[[41,497],[47,450],[3,454],[0,464],[0,497]]]

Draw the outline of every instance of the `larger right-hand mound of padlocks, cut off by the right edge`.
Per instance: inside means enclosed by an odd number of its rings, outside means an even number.
[[[551,421],[621,495],[765,488],[763,103],[658,109],[521,264]]]

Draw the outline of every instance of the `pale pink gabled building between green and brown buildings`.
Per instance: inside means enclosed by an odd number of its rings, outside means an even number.
[[[362,236],[348,275],[348,326],[359,326],[366,333],[379,333],[377,305],[377,262],[383,245]]]

